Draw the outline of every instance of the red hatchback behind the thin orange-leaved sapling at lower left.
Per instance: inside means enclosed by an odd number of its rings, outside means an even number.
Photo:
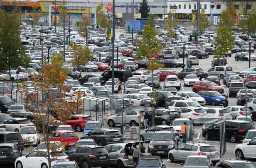
[[[74,131],[59,130],[49,134],[49,140],[59,141],[66,147],[72,147],[75,146],[76,142],[79,140],[79,137]],[[46,137],[44,137],[42,141],[46,141]]]

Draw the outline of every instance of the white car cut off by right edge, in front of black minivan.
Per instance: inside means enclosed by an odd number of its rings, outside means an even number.
[[[237,144],[234,154],[237,159],[256,158],[256,138],[247,143]]]

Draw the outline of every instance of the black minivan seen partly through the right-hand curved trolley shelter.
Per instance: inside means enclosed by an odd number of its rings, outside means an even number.
[[[232,143],[241,141],[244,139],[248,130],[254,129],[254,125],[251,122],[243,120],[230,120],[225,121],[226,140],[230,140]],[[202,136],[206,140],[219,139],[219,125],[214,124],[203,130]]]

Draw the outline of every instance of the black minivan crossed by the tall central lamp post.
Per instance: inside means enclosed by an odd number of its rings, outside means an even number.
[[[103,72],[101,76],[105,77],[105,82],[112,78],[112,70]],[[131,70],[118,70],[114,73],[114,78],[118,78],[121,82],[126,82],[129,77],[133,77]]]

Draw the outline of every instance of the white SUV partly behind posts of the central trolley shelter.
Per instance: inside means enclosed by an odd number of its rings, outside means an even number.
[[[144,112],[144,111],[141,111]],[[117,113],[116,115],[110,115],[107,119],[107,123],[109,127],[114,127],[116,124],[121,124],[122,119],[126,121],[126,124],[129,124],[130,126],[138,125],[139,122],[144,122],[144,118],[141,117],[140,111],[121,111],[120,113]],[[141,117],[141,118],[140,118]]]

